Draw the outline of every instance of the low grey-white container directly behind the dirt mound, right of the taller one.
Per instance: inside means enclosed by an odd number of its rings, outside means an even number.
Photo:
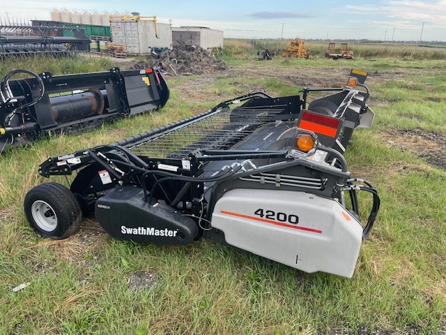
[[[172,43],[194,44],[210,50],[223,46],[223,31],[206,27],[172,27]]]

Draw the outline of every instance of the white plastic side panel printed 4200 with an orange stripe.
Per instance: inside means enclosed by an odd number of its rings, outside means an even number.
[[[231,190],[215,204],[212,226],[256,255],[348,278],[362,242],[362,226],[338,202],[293,191]]]

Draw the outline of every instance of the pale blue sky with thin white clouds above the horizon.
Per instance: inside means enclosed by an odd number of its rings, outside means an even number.
[[[0,8],[3,22],[50,20],[53,9],[117,10],[222,30],[225,38],[446,41],[446,0],[5,0]]]

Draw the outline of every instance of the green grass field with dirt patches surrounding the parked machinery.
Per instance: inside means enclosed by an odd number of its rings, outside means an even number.
[[[0,334],[445,334],[446,172],[435,161],[445,147],[432,159],[422,153],[446,136],[446,61],[255,61],[246,50],[224,56],[227,73],[167,78],[171,98],[160,112],[0,157]],[[29,59],[1,63],[0,74],[18,66],[55,75],[113,64]],[[92,220],[63,241],[38,237],[26,223],[22,201],[47,181],[37,167],[48,156],[112,142],[259,87],[296,94],[304,80],[327,82],[352,67],[371,73],[376,120],[372,130],[355,132],[346,159],[355,177],[378,188],[382,207],[351,279],[305,274],[206,240],[116,241]],[[404,135],[415,131],[421,135]],[[141,271],[151,281],[137,290]],[[29,285],[13,292],[22,283]]]

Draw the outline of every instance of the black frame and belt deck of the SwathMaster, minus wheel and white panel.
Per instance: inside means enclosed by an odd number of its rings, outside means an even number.
[[[337,93],[313,101],[323,107],[318,111],[302,111],[311,91]],[[367,181],[351,178],[341,143],[349,144],[361,114],[371,112],[367,98],[367,87],[305,89],[303,99],[255,92],[119,142],[54,156],[39,166],[39,173],[50,177],[77,172],[70,184],[74,202],[117,239],[186,244],[205,235],[224,242],[211,219],[217,202],[234,189],[275,196],[277,191],[311,193],[339,202],[356,217],[355,192],[367,191],[374,199],[362,226],[364,238],[380,200]],[[309,115],[306,123],[304,115]],[[325,145],[311,128],[335,141]],[[299,145],[308,135],[312,149]],[[238,200],[231,201],[236,207]]]

